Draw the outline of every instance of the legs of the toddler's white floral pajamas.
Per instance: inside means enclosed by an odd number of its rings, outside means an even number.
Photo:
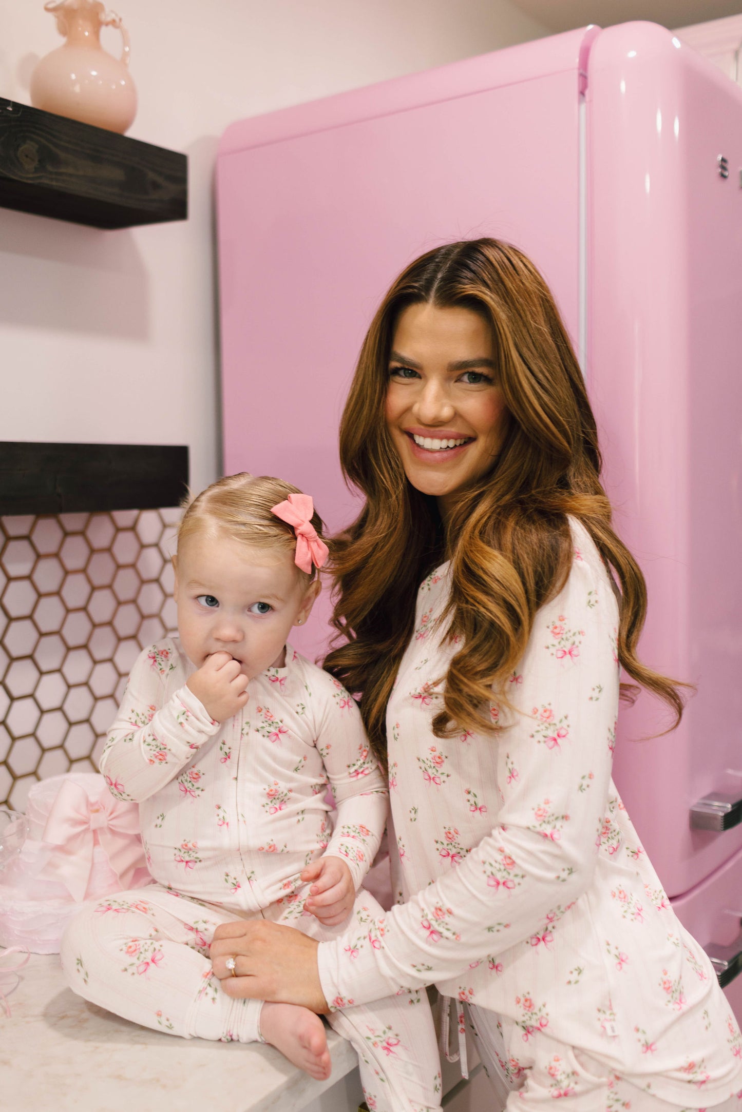
[[[281,921],[266,910],[266,917]],[[362,891],[354,914],[383,915]],[[261,1001],[233,1000],[211,972],[209,946],[233,911],[179,896],[158,884],[86,904],[68,924],[60,959],[80,996],[133,1023],[184,1039],[256,1042]],[[311,915],[290,925],[318,941],[347,930]],[[358,1054],[360,1080],[376,1112],[439,1112],[441,1073],[427,996],[404,992],[370,1005],[345,1007],[328,1022]]]

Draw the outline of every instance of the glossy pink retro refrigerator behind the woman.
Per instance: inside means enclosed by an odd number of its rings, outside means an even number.
[[[357,510],[337,427],[392,279],[516,244],[554,290],[646,576],[643,658],[698,694],[623,708],[615,780],[742,1019],[742,90],[652,23],[591,27],[233,125],[218,159],[227,473]],[[327,606],[297,645],[327,638]]]

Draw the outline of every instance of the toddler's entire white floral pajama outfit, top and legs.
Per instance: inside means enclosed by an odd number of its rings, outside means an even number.
[[[350,921],[380,920],[360,884],[384,833],[388,791],[358,707],[290,646],[286,662],[251,679],[246,707],[222,724],[187,687],[194,668],[177,639],[135,664],[101,772],[117,798],[139,803],[157,883],[86,904],[68,926],[62,965],[87,1000],[182,1037],[259,1041],[261,1002],[230,1000],[211,972],[217,924],[264,916],[339,937],[343,927],[304,911],[299,874],[325,854],[346,862],[359,890]],[[330,1022],[358,1053],[369,1108],[439,1112],[427,997],[397,987],[373,1005],[343,1001]]]

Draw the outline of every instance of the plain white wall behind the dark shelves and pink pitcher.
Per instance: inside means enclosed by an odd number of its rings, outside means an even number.
[[[219,468],[211,179],[236,119],[540,38],[511,0],[117,0],[139,113],[190,160],[190,219],[98,231],[0,209],[0,440],[188,444]],[[61,43],[0,0],[0,95]],[[103,32],[118,50],[118,36]]]

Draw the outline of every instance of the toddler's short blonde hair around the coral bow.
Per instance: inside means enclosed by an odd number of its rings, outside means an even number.
[[[294,555],[296,553],[294,528],[276,517],[271,513],[271,507],[285,502],[289,494],[301,493],[290,483],[284,483],[283,479],[269,475],[261,475],[258,478],[248,471],[226,475],[182,504],[185,513],[178,526],[178,547],[188,537],[210,525],[234,540],[250,545],[251,548],[280,548]],[[317,536],[324,539],[324,525],[317,510],[311,517],[311,524],[317,530]],[[298,567],[296,570],[307,583],[310,583],[316,575],[314,565],[309,574]]]

